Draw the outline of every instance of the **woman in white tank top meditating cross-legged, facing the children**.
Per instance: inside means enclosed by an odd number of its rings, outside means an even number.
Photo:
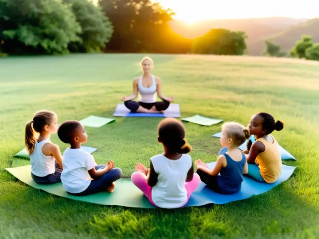
[[[153,60],[145,56],[142,61],[143,75],[133,80],[133,93],[129,97],[122,96],[121,100],[131,112],[159,113],[166,110],[170,102],[174,101],[173,97],[167,98],[162,95],[162,81],[160,78],[152,75],[154,68]],[[139,93],[138,102],[132,101]],[[156,101],[157,96],[162,101]]]

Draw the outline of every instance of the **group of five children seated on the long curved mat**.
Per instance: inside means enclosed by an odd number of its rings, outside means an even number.
[[[162,208],[184,206],[201,181],[220,194],[239,192],[244,175],[258,182],[273,183],[281,174],[281,154],[271,133],[283,127],[281,121],[275,121],[265,112],[253,115],[248,127],[236,122],[224,123],[220,138],[224,148],[214,168],[197,159],[194,172],[188,154],[192,148],[185,140],[184,125],[177,119],[165,118],[158,125],[158,141],[164,152],[151,157],[149,168],[137,163],[131,180],[152,205]],[[50,141],[50,134],[56,133],[62,142],[70,144],[63,156],[60,148]],[[241,151],[239,146],[250,135],[254,135],[256,141],[249,140],[247,149]],[[86,141],[87,134],[79,121],[66,121],[58,127],[56,113],[36,112],[25,130],[33,180],[38,184],[62,182],[69,194],[78,196],[113,192],[122,170],[115,168],[112,161],[97,165],[94,157],[81,149]]]

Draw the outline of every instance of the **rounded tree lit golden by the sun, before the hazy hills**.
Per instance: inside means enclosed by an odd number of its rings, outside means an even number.
[[[195,54],[243,55],[247,50],[246,34],[227,29],[211,29],[193,40],[191,52]]]

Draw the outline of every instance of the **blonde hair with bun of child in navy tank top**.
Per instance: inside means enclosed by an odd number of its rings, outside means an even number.
[[[236,122],[223,124],[222,132],[226,137],[232,139],[236,146],[241,146],[250,137],[248,128]]]

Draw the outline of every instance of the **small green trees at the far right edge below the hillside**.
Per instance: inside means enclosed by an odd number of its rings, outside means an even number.
[[[269,40],[265,41],[266,51],[268,56],[276,57],[293,57],[306,60],[319,61],[319,42],[314,43],[312,37],[309,35],[302,35],[301,40],[296,41],[289,53],[281,51],[281,47]]]

